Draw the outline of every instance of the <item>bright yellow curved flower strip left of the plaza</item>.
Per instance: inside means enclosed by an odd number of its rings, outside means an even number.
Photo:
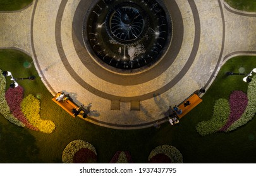
[[[40,118],[40,101],[32,94],[29,94],[21,102],[21,111],[29,123],[43,133],[52,133],[55,129],[54,122]]]

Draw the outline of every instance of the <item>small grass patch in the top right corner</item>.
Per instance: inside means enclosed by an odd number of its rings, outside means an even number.
[[[225,0],[229,6],[242,11],[256,11],[255,0]]]

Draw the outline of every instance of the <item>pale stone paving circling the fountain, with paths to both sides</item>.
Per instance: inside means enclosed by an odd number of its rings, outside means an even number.
[[[173,19],[166,55],[142,73],[109,72],[81,45],[80,14],[92,2],[35,0],[23,11],[0,13],[0,48],[31,55],[52,95],[64,91],[77,104],[92,102],[99,116],[86,120],[101,126],[137,129],[164,123],[169,106],[201,87],[207,90],[228,58],[256,54],[256,13],[232,9],[222,0],[164,0]],[[140,111],[131,110],[138,102]]]

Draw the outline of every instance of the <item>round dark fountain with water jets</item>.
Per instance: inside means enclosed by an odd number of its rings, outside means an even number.
[[[157,0],[100,0],[83,22],[83,41],[107,69],[154,65],[171,41],[171,18]]]

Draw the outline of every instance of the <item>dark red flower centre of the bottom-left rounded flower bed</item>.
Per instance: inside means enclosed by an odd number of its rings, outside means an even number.
[[[76,151],[73,162],[74,163],[96,163],[97,156],[94,151],[89,150],[88,148],[81,148]]]

